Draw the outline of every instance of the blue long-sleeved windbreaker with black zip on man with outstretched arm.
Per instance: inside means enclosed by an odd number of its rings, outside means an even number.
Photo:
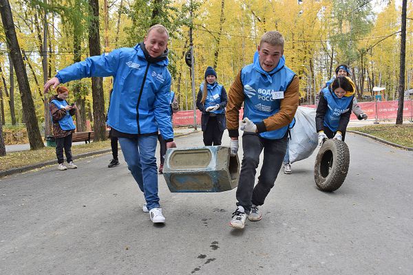
[[[148,63],[140,45],[74,63],[56,75],[61,83],[85,77],[114,77],[107,124],[129,134],[158,133],[173,139],[168,59]]]

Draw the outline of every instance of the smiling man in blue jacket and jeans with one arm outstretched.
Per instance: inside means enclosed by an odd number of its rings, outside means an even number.
[[[59,71],[45,83],[44,91],[60,83],[85,77],[113,76],[114,87],[107,124],[118,137],[127,166],[144,192],[144,212],[153,223],[165,223],[158,197],[156,141],[158,129],[167,142],[173,142],[169,98],[171,74],[167,69],[169,34],[163,25],[149,28],[142,43],[91,56]]]

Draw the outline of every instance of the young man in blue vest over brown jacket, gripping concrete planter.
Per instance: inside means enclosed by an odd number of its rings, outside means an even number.
[[[288,124],[299,100],[299,79],[285,65],[284,38],[279,32],[266,32],[257,47],[259,57],[242,68],[228,93],[226,128],[231,137],[231,155],[238,152],[238,126],[244,131],[244,156],[237,187],[237,209],[229,223],[242,229],[246,217],[260,221],[258,206],[273,188],[286,153]],[[239,113],[244,103],[244,119]],[[255,185],[255,173],[264,159]]]

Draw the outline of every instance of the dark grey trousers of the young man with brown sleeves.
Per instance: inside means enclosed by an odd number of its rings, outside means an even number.
[[[240,179],[237,187],[237,206],[242,206],[246,213],[251,210],[251,205],[262,206],[265,198],[273,188],[282,160],[286,154],[288,134],[279,140],[268,140],[257,133],[244,133],[242,135],[242,157]],[[260,154],[264,150],[264,159],[258,183],[255,185],[255,174],[260,164]]]

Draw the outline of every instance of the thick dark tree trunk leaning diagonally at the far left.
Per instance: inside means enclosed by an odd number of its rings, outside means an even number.
[[[6,34],[8,50],[13,61],[14,71],[16,71],[17,82],[19,83],[21,105],[23,107],[23,118],[26,123],[26,129],[28,130],[30,148],[43,148],[45,145],[41,139],[39,126],[37,124],[36,111],[34,109],[34,102],[30,91],[28,75],[25,72],[19,41],[17,41],[16,30],[14,30],[12,10],[8,0],[0,0],[0,12],[4,32]]]

